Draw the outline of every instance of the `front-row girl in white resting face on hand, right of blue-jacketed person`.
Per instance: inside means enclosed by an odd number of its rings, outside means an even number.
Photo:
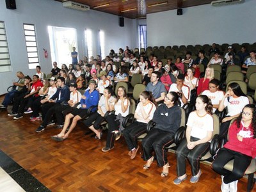
[[[89,116],[88,119],[84,121],[84,125],[95,132],[95,139],[100,140],[102,136],[102,130],[100,129],[100,124],[105,120],[104,116],[106,112],[113,111],[113,104],[116,99],[113,97],[114,93],[112,88],[106,87],[104,89],[103,95],[101,95],[98,111]]]

